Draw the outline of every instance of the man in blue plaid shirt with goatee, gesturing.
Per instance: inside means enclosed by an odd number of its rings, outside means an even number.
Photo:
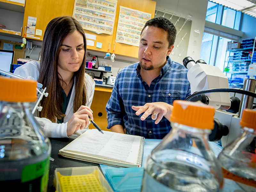
[[[125,128],[126,134],[150,139],[162,139],[171,130],[172,102],[190,95],[188,69],[168,56],[175,38],[171,21],[157,17],[146,22],[140,34],[140,62],[116,76],[106,106],[108,129],[124,133]]]

